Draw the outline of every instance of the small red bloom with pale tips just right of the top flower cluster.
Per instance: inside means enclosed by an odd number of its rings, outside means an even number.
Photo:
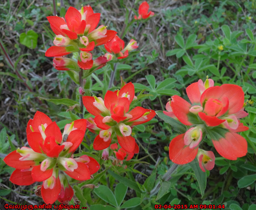
[[[118,59],[126,58],[128,56],[128,52],[138,48],[137,42],[133,39],[124,48],[124,41],[120,39],[117,35],[110,42],[106,43],[104,46],[106,50],[110,53],[110,54],[108,53],[105,54],[105,57],[108,58],[108,61],[113,59],[114,57]]]

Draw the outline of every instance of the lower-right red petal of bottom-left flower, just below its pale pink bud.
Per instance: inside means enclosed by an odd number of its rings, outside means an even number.
[[[86,164],[77,162],[77,165],[78,168],[76,168],[73,172],[66,170],[65,173],[75,180],[84,181],[90,179],[90,170]]]

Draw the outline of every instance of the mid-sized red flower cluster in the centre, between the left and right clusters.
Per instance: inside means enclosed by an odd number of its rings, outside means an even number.
[[[110,146],[116,135],[120,146],[129,153],[138,153],[139,148],[131,136],[132,127],[148,122],[155,116],[154,110],[140,106],[130,110],[134,99],[134,85],[130,82],[121,90],[106,92],[104,100],[96,96],[84,96],[83,103],[87,111],[95,116],[88,125],[92,132],[99,132],[94,139],[95,150],[103,150]]]

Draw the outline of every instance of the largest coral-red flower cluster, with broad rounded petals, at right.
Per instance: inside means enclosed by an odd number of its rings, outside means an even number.
[[[206,132],[212,138],[217,152],[224,158],[236,160],[246,155],[247,142],[237,134],[248,130],[239,120],[248,115],[244,112],[242,88],[234,84],[214,86],[213,80],[207,79],[204,83],[199,80],[191,84],[186,92],[192,104],[180,96],[172,96],[172,100],[166,104],[168,112],[164,112],[184,125],[191,126],[185,134],[176,136],[170,142],[170,159],[177,164],[186,164],[198,154],[203,165],[207,160],[214,160],[212,153],[198,152],[198,145]],[[210,166],[213,168],[214,164]]]

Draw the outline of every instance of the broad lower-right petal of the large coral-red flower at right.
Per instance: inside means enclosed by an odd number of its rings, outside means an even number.
[[[225,138],[213,140],[213,145],[217,152],[224,158],[236,160],[247,153],[246,140],[236,133],[227,132]]]

